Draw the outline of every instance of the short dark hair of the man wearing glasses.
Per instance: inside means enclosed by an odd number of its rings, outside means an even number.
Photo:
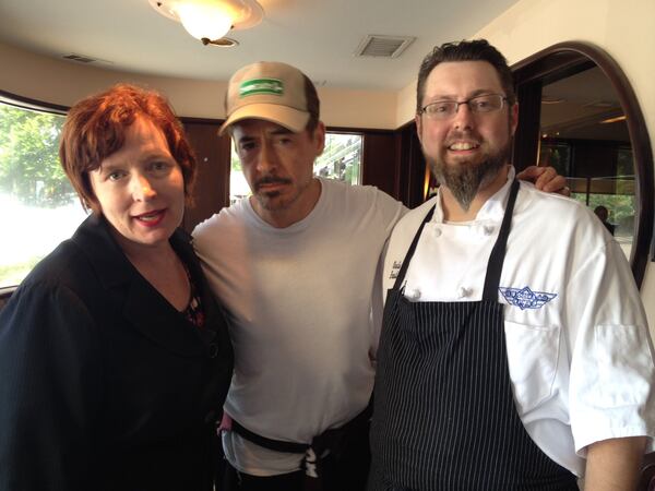
[[[443,61],[486,61],[490,63],[500,77],[500,84],[511,106],[516,101],[514,93],[514,76],[508,60],[502,53],[491,46],[486,39],[462,40],[460,43],[445,43],[436,46],[428,53],[418,70],[418,83],[416,86],[416,112],[419,112],[426,89],[426,81],[430,72]]]

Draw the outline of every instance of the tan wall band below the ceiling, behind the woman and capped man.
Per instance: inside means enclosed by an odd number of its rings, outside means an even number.
[[[31,99],[71,106],[117,82],[166,94],[179,116],[225,118],[225,82],[143,76],[56,60],[0,44],[0,89]],[[10,68],[10,69],[8,69]],[[395,92],[319,87],[323,121],[334,127],[395,129]]]

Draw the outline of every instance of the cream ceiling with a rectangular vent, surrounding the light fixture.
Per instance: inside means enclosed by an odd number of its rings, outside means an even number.
[[[147,0],[0,0],[0,43],[98,68],[226,81],[259,60],[286,61],[318,85],[400,89],[432,46],[472,37],[516,0],[260,0],[263,22],[228,34],[235,48],[203,46]],[[396,59],[353,56],[366,35],[415,36]],[[74,63],[74,61],[70,61]]]

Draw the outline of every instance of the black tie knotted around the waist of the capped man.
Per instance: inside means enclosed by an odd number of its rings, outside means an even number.
[[[372,412],[373,399],[371,397],[368,406],[359,415],[341,428],[325,430],[321,434],[314,436],[311,440],[311,443],[297,443],[267,439],[250,431],[234,419],[231,422],[231,430],[249,442],[267,450],[286,452],[290,454],[305,454],[300,464],[306,477],[305,489],[320,490],[322,489],[323,475],[321,471],[321,458],[330,454],[336,460],[338,460],[340,455],[343,453],[344,444],[346,443],[346,436],[350,432],[367,424],[371,419]]]

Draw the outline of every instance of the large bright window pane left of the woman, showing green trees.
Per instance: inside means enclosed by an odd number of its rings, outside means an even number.
[[[59,164],[63,119],[0,103],[0,287],[21,283],[85,217]]]

